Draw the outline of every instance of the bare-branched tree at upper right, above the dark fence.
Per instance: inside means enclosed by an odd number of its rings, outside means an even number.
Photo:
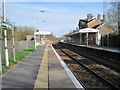
[[[107,13],[107,23],[108,26],[115,31],[116,34],[119,33],[119,8],[120,2],[109,2],[106,4],[108,7],[106,12]]]

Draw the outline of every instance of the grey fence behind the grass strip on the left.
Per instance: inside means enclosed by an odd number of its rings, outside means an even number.
[[[28,47],[34,46],[34,41],[15,41],[15,52],[18,53]],[[4,42],[0,41],[0,51],[2,58],[4,58]],[[8,54],[13,55],[12,41],[8,41]]]

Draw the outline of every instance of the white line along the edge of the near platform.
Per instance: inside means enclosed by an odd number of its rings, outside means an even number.
[[[55,49],[53,48],[52,45],[51,45],[51,47],[52,47],[54,53],[56,54],[58,60],[60,61],[61,65],[64,67],[65,71],[67,72],[67,74],[69,75],[71,80],[73,81],[76,88],[80,88],[80,89],[84,90],[83,86],[79,83],[79,81],[76,79],[76,77],[73,75],[71,70],[67,67],[67,65],[64,63],[64,61],[61,59],[61,57],[58,55],[58,53],[55,51]]]

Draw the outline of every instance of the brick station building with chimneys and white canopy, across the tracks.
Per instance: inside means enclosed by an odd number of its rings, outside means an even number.
[[[113,33],[113,30],[106,26],[106,17],[98,14],[97,19],[92,14],[87,19],[80,19],[78,27],[73,32],[65,34],[65,41],[80,45],[100,45],[102,35]]]

